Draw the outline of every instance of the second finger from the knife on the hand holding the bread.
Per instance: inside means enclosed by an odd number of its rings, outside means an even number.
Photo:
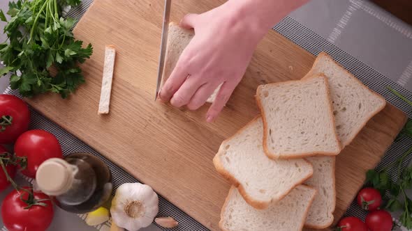
[[[170,104],[178,108],[188,104],[193,95],[195,95],[196,90],[198,90],[202,84],[200,79],[189,75],[179,90],[172,96],[172,99],[170,99]]]

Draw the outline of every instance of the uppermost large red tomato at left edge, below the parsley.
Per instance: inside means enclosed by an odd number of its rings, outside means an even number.
[[[0,95],[0,143],[13,143],[29,129],[27,104],[14,95]]]

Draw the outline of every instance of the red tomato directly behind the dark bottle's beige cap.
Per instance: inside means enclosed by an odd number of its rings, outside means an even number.
[[[36,177],[36,171],[45,160],[63,158],[61,146],[56,136],[43,130],[24,132],[14,146],[17,157],[27,157],[27,168],[22,173],[27,177]]]

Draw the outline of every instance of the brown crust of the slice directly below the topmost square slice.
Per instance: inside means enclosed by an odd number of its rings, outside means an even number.
[[[246,192],[246,190],[244,189],[243,184],[241,184],[236,177],[234,177],[233,175],[231,175],[221,164],[219,155],[221,154],[221,152],[223,152],[223,148],[226,146],[226,142],[230,141],[232,138],[234,138],[235,136],[241,134],[244,129],[247,129],[247,127],[253,125],[254,122],[257,122],[259,119],[261,118],[261,116],[256,116],[255,118],[253,118],[253,120],[251,120],[250,122],[247,123],[247,125],[245,125],[244,127],[242,127],[241,129],[239,129],[239,131],[237,131],[233,136],[230,136],[229,138],[227,138],[225,141],[223,141],[219,147],[219,151],[216,153],[216,155],[213,158],[213,164],[214,164],[214,168],[216,168],[216,171],[222,176],[224,177],[226,180],[228,180],[231,184],[233,184],[233,186],[235,186],[238,190],[240,195],[242,196],[242,198],[244,198],[244,200],[251,205],[251,207],[254,207],[255,209],[266,209],[271,202],[276,202],[279,201],[281,199],[283,199],[286,195],[288,195],[288,193],[290,191],[292,191],[292,189],[295,188],[295,186],[302,184],[303,182],[305,182],[306,180],[308,180],[313,174],[314,174],[314,166],[307,161],[306,159],[304,159],[304,161],[309,164],[311,166],[311,172],[307,175],[307,177],[304,177],[304,179],[302,179],[300,182],[297,182],[296,184],[294,184],[288,191],[286,191],[284,194],[282,194],[281,196],[279,196],[279,199],[274,200],[274,198],[272,198],[270,201],[262,201],[262,200],[253,200],[253,198],[251,196],[249,196]]]

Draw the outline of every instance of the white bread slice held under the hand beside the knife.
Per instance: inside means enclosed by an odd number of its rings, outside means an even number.
[[[165,83],[168,77],[170,77],[170,74],[172,74],[173,69],[175,69],[176,63],[179,60],[180,55],[182,54],[186,46],[189,45],[189,42],[191,41],[194,35],[195,32],[193,31],[193,29],[183,29],[175,22],[170,22],[162,83]],[[216,95],[219,92],[220,87],[221,86],[214,90],[214,93],[210,95],[206,102],[214,102],[214,99],[216,99]]]

